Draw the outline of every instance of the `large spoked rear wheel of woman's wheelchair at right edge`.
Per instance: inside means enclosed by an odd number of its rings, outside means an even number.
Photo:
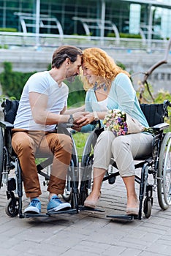
[[[171,205],[171,132],[164,135],[159,154],[158,200],[159,206],[166,210]]]

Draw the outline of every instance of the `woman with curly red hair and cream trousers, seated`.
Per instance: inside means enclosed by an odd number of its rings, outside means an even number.
[[[148,127],[148,122],[136,97],[130,75],[115,64],[115,61],[99,48],[83,50],[83,80],[86,93],[86,110],[91,123],[102,120],[107,110],[121,110]],[[97,138],[94,148],[94,184],[84,206],[95,208],[101,194],[102,179],[115,159],[119,173],[123,178],[127,192],[126,214],[138,214],[138,200],[134,187],[134,158],[151,153],[153,136],[139,132],[124,136],[115,136],[104,130]]]

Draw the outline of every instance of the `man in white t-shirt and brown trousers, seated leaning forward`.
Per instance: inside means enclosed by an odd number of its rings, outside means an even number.
[[[41,189],[35,158],[37,154],[53,154],[53,165],[47,191],[47,213],[65,210],[63,203],[66,171],[72,156],[72,140],[68,135],[56,133],[56,124],[72,124],[76,119],[86,120],[83,113],[67,115],[68,87],[64,79],[78,75],[82,64],[82,51],[73,46],[61,46],[53,53],[50,71],[32,75],[23,88],[17,116],[12,129],[12,148],[22,170],[23,185],[30,203],[25,214],[39,214]],[[84,124],[84,123],[83,123]]]

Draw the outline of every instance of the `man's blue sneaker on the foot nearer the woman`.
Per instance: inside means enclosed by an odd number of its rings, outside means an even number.
[[[50,213],[52,211],[54,212],[54,211],[60,211],[60,210],[68,210],[69,208],[71,208],[70,203],[63,203],[57,197],[57,195],[53,195],[53,197],[51,197],[47,205],[47,213]]]

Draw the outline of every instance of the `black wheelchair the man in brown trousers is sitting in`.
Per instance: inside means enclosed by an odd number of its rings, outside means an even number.
[[[1,107],[4,112],[4,121],[0,121],[0,185],[7,186],[7,204],[6,214],[9,217],[35,217],[34,214],[23,214],[22,212],[22,197],[23,197],[23,181],[22,170],[20,162],[15,152],[12,150],[12,128],[15,116],[18,110],[18,100],[6,99],[2,102]],[[60,124],[57,127],[58,133],[64,133],[72,138],[69,132],[69,124]],[[77,149],[75,141],[72,138],[72,158],[66,175],[65,193],[62,195],[64,200],[71,201],[72,208],[67,211],[58,211],[56,214],[77,214],[78,213],[78,181],[79,181],[79,163],[77,157]],[[36,154],[36,159],[39,160],[37,164],[37,173],[45,178],[43,184],[47,184],[50,179],[50,165],[53,162],[53,154],[42,155]],[[37,161],[38,162],[38,161]],[[10,178],[9,173],[15,170],[15,177]],[[0,187],[0,188],[1,188]],[[50,214],[37,214],[36,217],[48,217]],[[55,213],[54,213],[55,214]]]

